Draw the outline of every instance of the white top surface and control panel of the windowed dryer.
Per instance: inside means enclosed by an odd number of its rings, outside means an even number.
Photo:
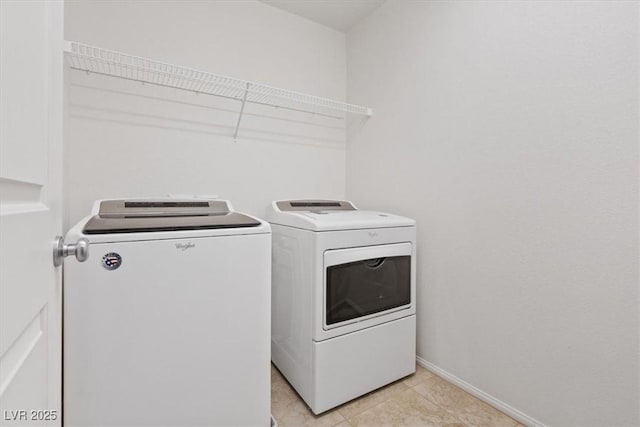
[[[272,224],[310,231],[357,230],[366,228],[413,227],[413,219],[377,211],[357,209],[339,200],[279,200],[267,209]]]

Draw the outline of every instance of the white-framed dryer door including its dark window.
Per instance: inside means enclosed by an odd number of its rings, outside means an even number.
[[[410,243],[327,251],[324,261],[325,330],[411,307]]]

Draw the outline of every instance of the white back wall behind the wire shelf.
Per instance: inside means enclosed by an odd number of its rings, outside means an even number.
[[[344,100],[345,35],[257,1],[67,1],[68,40]],[[344,197],[345,124],[65,70],[65,227],[97,198]]]

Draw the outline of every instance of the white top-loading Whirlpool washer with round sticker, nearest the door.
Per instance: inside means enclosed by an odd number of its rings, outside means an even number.
[[[65,426],[269,426],[269,224],[223,200],[98,201],[66,236]]]

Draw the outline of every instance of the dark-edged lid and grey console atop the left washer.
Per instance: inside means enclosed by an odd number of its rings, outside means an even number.
[[[104,200],[84,234],[113,234],[256,227],[250,216],[233,212],[223,200]]]

